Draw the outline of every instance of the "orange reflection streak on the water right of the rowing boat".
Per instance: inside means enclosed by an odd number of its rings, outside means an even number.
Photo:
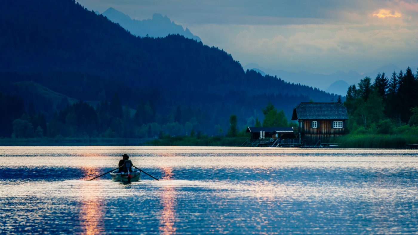
[[[170,180],[173,177],[171,167],[163,168],[165,180]],[[161,192],[161,201],[163,202],[163,211],[161,212],[160,231],[161,234],[174,234],[176,227],[174,227],[174,221],[176,220],[176,190],[172,185],[165,185]]]

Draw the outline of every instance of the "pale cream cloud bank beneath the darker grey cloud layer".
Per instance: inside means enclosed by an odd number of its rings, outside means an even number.
[[[217,46],[227,48],[243,65],[258,63],[288,71],[368,72],[389,63],[415,66],[418,52],[418,30],[400,26],[206,25],[197,34],[205,31],[207,37],[220,28]]]

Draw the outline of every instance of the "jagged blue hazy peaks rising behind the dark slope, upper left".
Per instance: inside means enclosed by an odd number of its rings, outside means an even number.
[[[98,14],[98,12],[96,12]],[[123,28],[128,30],[135,36],[140,37],[154,37],[163,38],[169,34],[183,35],[185,38],[191,38],[200,42],[200,38],[193,35],[188,28],[184,29],[183,26],[177,25],[174,21],[171,21],[167,16],[155,13],[152,19],[147,20],[135,20],[131,19],[129,15],[126,15],[115,8],[109,8],[102,13],[109,20],[120,24]]]

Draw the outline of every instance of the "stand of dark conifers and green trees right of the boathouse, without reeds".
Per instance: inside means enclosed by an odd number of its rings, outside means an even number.
[[[418,125],[418,70],[408,67],[405,73],[394,71],[390,77],[378,73],[358,85],[349,86],[344,106],[349,114],[349,130],[353,133],[393,133],[408,124]]]

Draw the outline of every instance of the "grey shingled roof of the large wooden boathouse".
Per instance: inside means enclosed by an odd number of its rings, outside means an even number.
[[[293,109],[292,120],[347,120],[347,109],[339,103],[301,103]]]

